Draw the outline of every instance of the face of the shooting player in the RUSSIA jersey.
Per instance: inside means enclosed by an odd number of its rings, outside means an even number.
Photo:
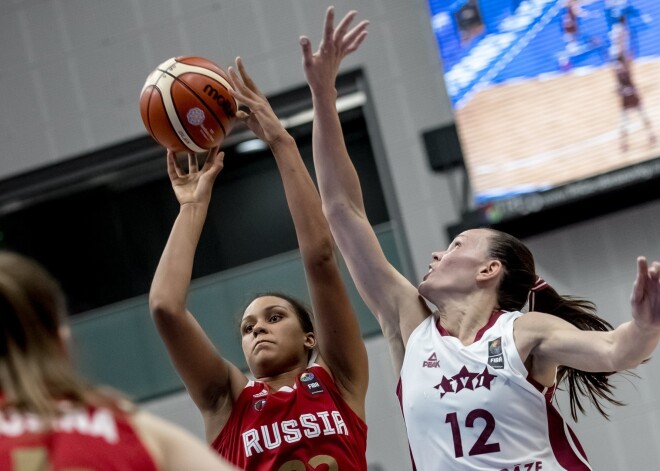
[[[293,307],[277,296],[255,299],[241,320],[243,353],[256,377],[307,364],[314,334],[303,332]]]

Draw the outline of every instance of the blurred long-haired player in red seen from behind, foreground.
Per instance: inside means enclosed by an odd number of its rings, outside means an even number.
[[[0,251],[0,469],[235,469],[189,433],[80,380],[66,315],[41,265]]]

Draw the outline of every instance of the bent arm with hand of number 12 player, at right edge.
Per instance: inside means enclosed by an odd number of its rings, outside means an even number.
[[[517,335],[535,362],[556,368],[564,365],[588,372],[621,371],[649,358],[660,339],[660,262],[651,267],[637,259],[631,296],[632,320],[609,332],[582,331],[555,316],[522,316]]]

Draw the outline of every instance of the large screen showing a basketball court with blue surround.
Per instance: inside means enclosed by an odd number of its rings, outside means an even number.
[[[477,206],[660,156],[660,2],[429,0]]]

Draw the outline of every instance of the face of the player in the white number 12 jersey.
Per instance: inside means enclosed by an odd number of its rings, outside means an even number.
[[[419,293],[433,302],[438,295],[473,291],[477,275],[488,259],[489,240],[487,230],[472,229],[456,236],[447,250],[434,252],[429,271],[419,284]]]

